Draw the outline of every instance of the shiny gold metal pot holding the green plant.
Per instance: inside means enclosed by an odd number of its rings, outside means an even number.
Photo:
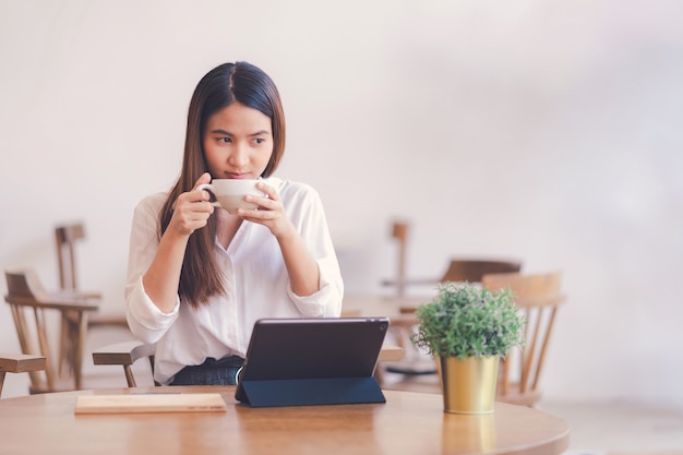
[[[441,357],[443,409],[455,414],[490,414],[495,402],[498,356]]]

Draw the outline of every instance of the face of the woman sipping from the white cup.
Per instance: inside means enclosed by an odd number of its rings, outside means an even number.
[[[232,103],[208,118],[203,142],[214,179],[257,179],[273,155],[271,118]]]

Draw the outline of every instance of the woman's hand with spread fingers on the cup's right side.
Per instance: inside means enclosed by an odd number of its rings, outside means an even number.
[[[244,196],[244,200],[256,204],[259,208],[239,208],[237,215],[248,221],[257,223],[267,227],[278,240],[296,232],[293,225],[287,217],[287,214],[285,214],[285,207],[283,206],[277,190],[264,182],[256,183],[256,188],[263,191],[267,196],[248,194]]]

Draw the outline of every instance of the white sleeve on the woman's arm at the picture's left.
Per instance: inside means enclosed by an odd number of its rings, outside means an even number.
[[[128,325],[137,339],[156,343],[178,319],[180,298],[170,313],[161,312],[149,299],[142,284],[159,244],[158,213],[164,203],[164,194],[155,194],[143,200],[133,214],[125,302]]]

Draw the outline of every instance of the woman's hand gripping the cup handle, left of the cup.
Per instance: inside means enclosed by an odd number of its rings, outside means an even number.
[[[182,193],[173,204],[173,215],[168,225],[169,229],[183,236],[190,236],[196,229],[206,226],[208,217],[214,213],[206,190],[197,190],[200,184],[211,183],[211,173],[204,172],[194,183],[192,191]]]

